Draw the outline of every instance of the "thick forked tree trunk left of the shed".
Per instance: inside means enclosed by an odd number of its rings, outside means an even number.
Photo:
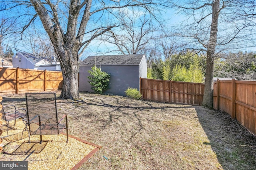
[[[53,11],[53,19],[48,14],[47,9],[44,4],[39,0],[30,0],[34,6],[44,29],[50,37],[52,45],[54,46],[54,51],[59,57],[60,65],[62,68],[63,75],[63,87],[60,98],[63,99],[78,99],[78,71],[79,71],[79,57],[78,51],[82,47],[83,34],[86,23],[90,16],[90,6],[92,0],[88,0],[86,3],[86,10],[84,12],[83,21],[81,21],[80,29],[76,36],[76,26],[80,9],[79,1],[71,0],[70,10],[68,16],[67,31],[64,34],[60,23],[58,22],[58,14],[56,12],[56,7],[49,3]],[[85,19],[87,17],[87,19]]]

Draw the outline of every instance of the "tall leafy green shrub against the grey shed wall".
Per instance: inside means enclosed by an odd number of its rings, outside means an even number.
[[[96,66],[92,67],[92,70],[88,70],[91,76],[88,76],[88,81],[92,86],[91,89],[97,94],[103,94],[105,90],[108,89],[108,83],[110,80],[110,74],[101,71],[100,68]]]

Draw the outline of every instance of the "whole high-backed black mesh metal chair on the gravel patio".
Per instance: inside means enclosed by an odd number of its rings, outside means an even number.
[[[26,93],[27,118],[22,119],[26,122],[30,135],[58,135],[66,129],[68,143],[68,119],[64,115],[58,120],[56,93]],[[63,119],[66,123],[60,123]]]

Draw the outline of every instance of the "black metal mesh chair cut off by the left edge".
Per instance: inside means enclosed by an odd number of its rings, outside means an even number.
[[[26,109],[17,109],[14,105],[7,105],[3,106],[2,102],[0,102],[0,113],[2,113],[2,119],[6,121],[7,124],[7,133],[8,136],[8,129],[9,129],[9,121],[14,120],[14,126],[16,124],[16,119],[26,117]],[[3,138],[3,137],[2,137]]]

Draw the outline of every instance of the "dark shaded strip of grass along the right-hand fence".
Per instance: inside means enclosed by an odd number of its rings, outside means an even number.
[[[199,122],[222,168],[254,170],[256,137],[228,113],[195,107]]]

